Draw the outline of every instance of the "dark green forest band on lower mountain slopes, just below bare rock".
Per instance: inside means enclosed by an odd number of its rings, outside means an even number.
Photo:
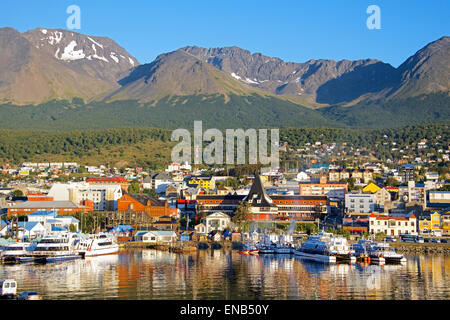
[[[0,128],[33,130],[119,127],[192,128],[394,128],[449,123],[448,93],[310,109],[281,98],[249,95],[166,97],[140,104],[133,100],[85,103],[50,101],[37,106],[0,105]]]

